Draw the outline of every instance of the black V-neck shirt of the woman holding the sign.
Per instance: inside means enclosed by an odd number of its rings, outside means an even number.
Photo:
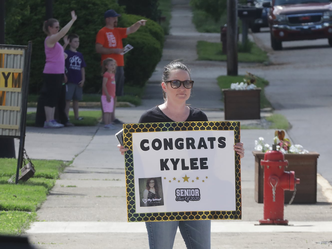
[[[198,108],[188,106],[190,109],[189,116],[185,122],[192,121],[207,121],[207,116]],[[165,123],[165,122],[175,122],[167,117],[158,106],[155,106],[147,111],[145,111],[138,123]]]

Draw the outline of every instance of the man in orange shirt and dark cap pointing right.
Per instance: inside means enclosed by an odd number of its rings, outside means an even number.
[[[124,95],[124,56],[122,39],[126,38],[128,34],[134,33],[140,26],[144,26],[146,20],[140,20],[130,27],[118,28],[118,17],[120,14],[115,10],[108,10],[105,12],[105,27],[100,29],[96,37],[96,52],[101,54],[101,62],[106,58],[113,58],[117,62],[117,72],[115,74],[116,82],[116,96]],[[122,124],[119,119],[115,118],[115,107],[117,97],[114,99],[114,111],[112,120],[115,124]]]

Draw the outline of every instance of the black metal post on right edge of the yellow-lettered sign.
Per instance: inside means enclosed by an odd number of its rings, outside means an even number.
[[[29,77],[30,77],[30,62],[32,53],[32,41],[29,41],[28,47],[24,53],[24,75],[22,79],[22,104],[21,104],[21,124],[20,124],[20,146],[18,152],[17,169],[15,183],[19,182],[19,173],[23,163],[23,152],[25,142],[25,130],[27,123],[27,106],[28,106],[28,91],[29,91]]]

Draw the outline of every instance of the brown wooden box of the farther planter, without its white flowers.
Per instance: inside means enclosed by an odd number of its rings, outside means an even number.
[[[222,89],[225,120],[261,119],[261,88],[252,90]]]

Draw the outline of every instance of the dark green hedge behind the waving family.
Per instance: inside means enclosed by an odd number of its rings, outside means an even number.
[[[64,26],[70,21],[71,10],[75,10],[77,14],[77,20],[68,33],[77,33],[80,36],[78,51],[83,54],[87,64],[85,71],[86,82],[83,89],[85,93],[98,93],[101,90],[100,55],[95,52],[95,39],[98,30],[105,26],[105,11],[115,9],[118,13],[122,14],[122,17],[119,18],[119,27],[128,27],[132,25],[135,20],[143,19],[142,17],[123,14],[124,7],[119,6],[116,2],[116,0],[56,0],[53,2],[53,16],[59,21],[60,26]],[[45,19],[45,2],[42,0],[21,0],[20,3],[19,6],[15,6],[15,8],[19,9],[17,13],[20,13],[20,16],[15,19],[16,22],[13,22],[13,25],[6,22],[6,43],[27,45],[29,40],[33,42],[29,91],[30,93],[39,93],[42,86],[42,71],[45,64],[43,42],[46,35],[42,31],[42,24]],[[128,20],[126,20],[127,18]],[[128,41],[124,39],[124,44],[130,43],[135,48],[132,50],[135,51],[135,53],[131,53],[132,51],[130,51],[125,56],[125,61],[131,62],[140,57],[146,58],[146,55],[141,54],[141,56],[139,56],[137,53],[139,53],[139,51],[141,51],[141,53],[148,52],[148,46],[154,44],[153,37],[157,38],[159,43],[163,43],[164,35],[160,33],[160,30],[162,31],[157,23],[148,20],[146,27],[141,27],[136,32],[145,34],[145,36],[140,36],[146,41],[145,43],[141,41],[136,42],[136,39],[130,38],[136,34],[130,34],[127,38]],[[149,40],[153,40],[153,42]],[[63,41],[60,40],[60,43],[63,44]],[[158,49],[160,51],[158,50],[154,53],[156,53],[156,57],[159,58],[159,54],[162,53],[162,46],[159,46]],[[134,56],[132,54],[134,54]],[[126,65],[125,71],[130,72],[131,75],[141,75],[141,62],[142,60],[138,60],[136,63],[129,63],[130,66]],[[146,75],[152,74],[158,62],[156,62],[156,59],[151,60],[151,62],[143,61],[143,64],[147,63],[149,65],[152,62],[154,63],[153,69],[151,69],[152,66],[146,67],[146,69],[151,70],[151,72],[147,72]],[[128,80],[129,79],[130,77]],[[139,81],[146,81],[147,79],[145,76],[139,78]],[[128,80],[126,79],[126,82]]]

